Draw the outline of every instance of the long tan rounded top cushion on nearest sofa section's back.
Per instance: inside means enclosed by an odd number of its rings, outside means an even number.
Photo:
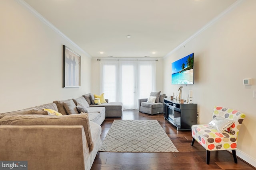
[[[86,113],[63,116],[6,115],[0,119],[0,125],[82,125],[89,149],[93,148],[90,120]]]

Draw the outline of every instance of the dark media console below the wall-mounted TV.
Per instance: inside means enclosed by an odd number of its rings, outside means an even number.
[[[165,98],[164,105],[164,118],[176,126],[178,131],[191,130],[191,126],[197,124],[197,104],[181,104],[178,100]]]

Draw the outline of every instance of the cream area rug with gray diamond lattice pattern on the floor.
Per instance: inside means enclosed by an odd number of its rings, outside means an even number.
[[[178,152],[157,120],[114,120],[101,152]]]

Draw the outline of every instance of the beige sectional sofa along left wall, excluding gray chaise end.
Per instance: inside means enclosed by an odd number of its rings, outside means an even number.
[[[0,160],[27,160],[28,169],[89,170],[102,143],[106,109],[85,101],[80,97],[0,113]],[[86,105],[89,114],[77,114],[77,103]]]

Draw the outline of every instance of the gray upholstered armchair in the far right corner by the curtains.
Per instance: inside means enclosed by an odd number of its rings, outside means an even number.
[[[147,98],[139,99],[139,111],[150,115],[164,113],[164,98],[167,98],[166,94],[160,94],[158,103],[148,103]]]

